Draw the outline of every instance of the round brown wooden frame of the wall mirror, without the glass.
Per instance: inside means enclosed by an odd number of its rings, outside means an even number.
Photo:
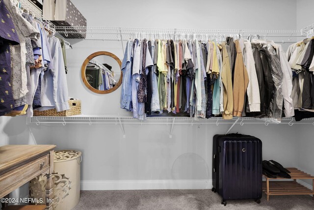
[[[122,62],[121,60],[114,54],[110,53],[110,52],[106,52],[106,51],[98,51],[96,53],[93,53],[91,54],[90,56],[88,56],[83,64],[82,64],[82,67],[81,67],[81,78],[83,80],[83,83],[85,84],[85,86],[93,91],[93,92],[96,92],[96,93],[99,93],[99,94],[106,94],[106,93],[110,93],[110,92],[113,92],[114,90],[117,90],[120,85],[122,84],[122,78],[123,78],[123,74],[122,74],[122,71],[121,71],[121,75],[120,75],[120,79],[119,81],[117,82],[117,84],[109,89],[109,90],[97,90],[97,89],[94,89],[91,85],[89,85],[89,83],[87,82],[87,79],[86,79],[86,74],[85,74],[85,70],[86,70],[86,66],[87,64],[89,63],[90,60],[92,60],[93,58],[97,57],[97,56],[110,56],[111,58],[113,58],[114,60],[116,60],[120,66],[120,70],[121,70],[121,65],[122,65]]]

